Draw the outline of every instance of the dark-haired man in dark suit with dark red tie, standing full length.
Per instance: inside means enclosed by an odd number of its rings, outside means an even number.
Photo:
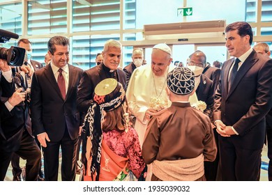
[[[82,124],[76,109],[77,86],[82,72],[68,64],[69,40],[54,36],[47,43],[49,65],[33,74],[31,119],[43,147],[45,180],[57,180],[61,147],[61,180],[75,180],[77,139]]]

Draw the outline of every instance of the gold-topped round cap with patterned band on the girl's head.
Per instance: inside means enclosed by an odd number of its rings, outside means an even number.
[[[105,111],[118,108],[125,100],[125,91],[122,84],[116,79],[104,79],[94,89],[93,100]]]

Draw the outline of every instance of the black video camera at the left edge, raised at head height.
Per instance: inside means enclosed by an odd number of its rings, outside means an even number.
[[[10,31],[4,31],[0,29],[0,42],[7,42],[10,38],[19,38],[15,33]],[[6,60],[8,65],[21,66],[24,63],[24,53],[25,49],[20,47],[11,46],[10,49],[5,47],[0,47],[0,59]]]

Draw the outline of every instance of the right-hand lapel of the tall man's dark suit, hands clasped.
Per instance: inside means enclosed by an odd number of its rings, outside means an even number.
[[[234,91],[236,86],[239,84],[239,82],[241,81],[245,73],[248,72],[248,70],[250,70],[250,68],[252,68],[252,66],[255,65],[257,61],[258,59],[256,58],[256,52],[254,51],[251,52],[251,54],[248,56],[247,59],[245,59],[245,61],[243,62],[243,65],[241,65],[241,68],[237,72],[236,77],[234,78],[233,84],[231,88],[229,89],[229,93],[227,94],[227,98],[229,97],[229,95],[232,94],[232,92]]]

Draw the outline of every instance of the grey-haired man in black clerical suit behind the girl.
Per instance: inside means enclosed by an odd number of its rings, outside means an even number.
[[[126,88],[126,73],[118,68],[121,52],[122,45],[119,41],[107,40],[102,52],[103,63],[83,72],[77,91],[77,108],[80,111],[87,113],[89,107],[93,104],[94,88],[103,79],[114,78],[123,85],[123,88]],[[82,154],[85,154],[87,134],[83,131],[81,137]],[[84,169],[86,167],[86,157],[84,155],[82,155],[82,163]]]

